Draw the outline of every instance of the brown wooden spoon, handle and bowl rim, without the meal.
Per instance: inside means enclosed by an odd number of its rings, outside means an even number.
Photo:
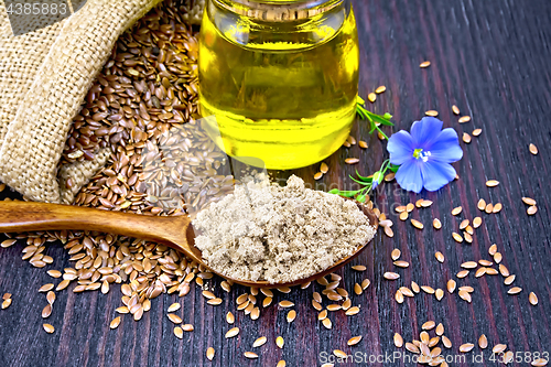
[[[376,215],[363,205],[358,205],[358,207],[377,229],[378,220]],[[191,219],[185,215],[160,217],[72,205],[0,202],[0,233],[61,229],[96,230],[164,244],[184,252],[192,260],[204,265],[214,273],[219,274],[204,262],[201,250],[194,246],[195,234],[191,225]],[[219,276],[247,287],[291,287],[315,280],[335,271],[357,257],[366,247],[367,244],[358,246],[352,256],[337,261],[331,268],[306,279],[299,279],[293,282],[269,283],[267,281],[249,281],[231,279],[223,274]]]

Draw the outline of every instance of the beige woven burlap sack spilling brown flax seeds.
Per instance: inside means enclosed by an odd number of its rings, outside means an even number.
[[[160,0],[88,0],[69,18],[13,36],[0,0],[0,180],[33,201],[71,203],[105,164],[60,168],[73,117],[117,37]],[[73,191],[60,185],[72,177]]]

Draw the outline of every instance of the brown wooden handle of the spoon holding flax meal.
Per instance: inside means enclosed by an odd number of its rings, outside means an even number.
[[[80,229],[174,244],[182,238],[182,230],[185,238],[188,225],[186,216],[159,217],[73,205],[0,202],[0,233]]]

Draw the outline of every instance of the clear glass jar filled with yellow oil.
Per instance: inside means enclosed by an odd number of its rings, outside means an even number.
[[[331,155],[356,114],[359,51],[349,0],[208,0],[199,106],[226,153],[296,169]]]

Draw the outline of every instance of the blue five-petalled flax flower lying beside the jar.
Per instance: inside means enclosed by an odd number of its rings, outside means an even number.
[[[457,132],[442,130],[442,121],[434,117],[423,117],[411,126],[411,133],[400,130],[388,140],[390,163],[400,165],[396,181],[408,191],[436,191],[455,177],[450,164],[461,160]]]

